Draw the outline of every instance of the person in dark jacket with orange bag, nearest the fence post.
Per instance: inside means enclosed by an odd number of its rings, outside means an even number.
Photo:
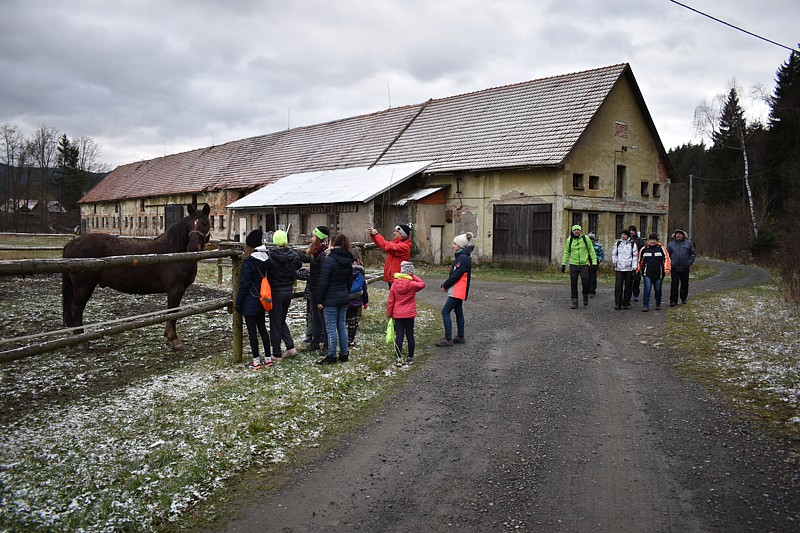
[[[250,340],[250,351],[253,362],[245,365],[250,370],[260,370],[270,367],[272,359],[267,361],[270,354],[269,331],[267,331],[266,311],[261,305],[259,291],[261,280],[267,277],[269,268],[269,254],[263,244],[264,233],[254,229],[245,238],[244,259],[239,275],[239,290],[236,293],[236,303],[233,308],[244,317],[247,326],[247,336]],[[258,354],[258,337],[264,345],[264,357]]]

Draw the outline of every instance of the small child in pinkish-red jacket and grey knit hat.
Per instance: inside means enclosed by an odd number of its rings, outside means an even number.
[[[403,337],[408,339],[406,363],[414,362],[414,317],[417,316],[417,293],[425,288],[425,282],[414,273],[410,261],[400,263],[400,272],[394,275],[394,283],[389,290],[386,316],[394,319],[394,347],[397,354],[396,365],[403,365]]]

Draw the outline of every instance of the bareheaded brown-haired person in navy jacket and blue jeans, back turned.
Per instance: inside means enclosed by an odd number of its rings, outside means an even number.
[[[328,333],[328,352],[318,365],[332,365],[337,362],[336,348],[339,348],[338,362],[345,363],[350,357],[347,345],[345,316],[350,303],[350,286],[353,281],[353,254],[350,253],[350,239],[339,234],[333,239],[317,287],[317,308],[325,315],[325,328]]]

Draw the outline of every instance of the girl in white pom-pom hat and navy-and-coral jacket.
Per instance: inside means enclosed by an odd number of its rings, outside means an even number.
[[[442,323],[444,325],[444,338],[436,341],[436,346],[452,346],[464,344],[464,301],[469,294],[469,283],[472,280],[472,232],[462,233],[453,239],[453,264],[450,265],[450,276],[441,285],[447,293],[447,300],[442,307]],[[456,314],[456,332],[453,337],[453,321],[450,313]]]

